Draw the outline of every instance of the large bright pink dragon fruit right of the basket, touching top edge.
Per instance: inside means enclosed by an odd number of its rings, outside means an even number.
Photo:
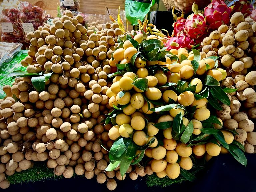
[[[228,7],[224,1],[213,0],[204,9],[204,16],[206,18],[206,23],[209,25],[208,28],[216,30],[222,24],[228,25],[230,22],[229,16],[232,7]]]

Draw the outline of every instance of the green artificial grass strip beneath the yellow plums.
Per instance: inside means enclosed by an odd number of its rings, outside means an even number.
[[[202,169],[204,169],[204,167],[199,166],[196,169],[194,169],[193,171],[191,171],[191,173],[193,175],[196,175]],[[167,187],[167,186],[170,186],[172,184],[181,184],[185,181],[187,181],[187,179],[185,179],[182,175],[180,175],[176,179],[170,179],[167,176],[164,177],[164,178],[159,178],[159,177],[156,176],[155,173],[152,174],[152,175],[147,175],[146,176],[146,184],[147,184],[148,187],[155,187],[155,186]]]

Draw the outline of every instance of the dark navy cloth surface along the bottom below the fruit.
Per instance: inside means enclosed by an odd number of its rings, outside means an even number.
[[[246,167],[239,164],[230,154],[220,155],[212,158],[206,165],[206,169],[197,174],[197,181],[189,181],[183,184],[173,184],[168,187],[150,187],[145,182],[145,177],[139,177],[132,181],[128,175],[124,181],[117,181],[115,191],[122,192],[256,192],[256,155],[246,154],[248,164]],[[108,191],[106,183],[98,184],[96,178],[86,179],[84,177],[60,179],[57,181],[46,181],[11,185],[3,192],[26,191],[26,192],[64,192],[64,191]]]

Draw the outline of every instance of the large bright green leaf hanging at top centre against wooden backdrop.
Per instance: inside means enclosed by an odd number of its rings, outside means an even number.
[[[154,4],[155,4],[155,0],[152,0],[150,4],[144,3],[144,2],[126,0],[125,15],[127,20],[130,21],[132,25],[137,25],[138,20],[143,21],[144,17],[150,11],[151,6],[153,6]]]

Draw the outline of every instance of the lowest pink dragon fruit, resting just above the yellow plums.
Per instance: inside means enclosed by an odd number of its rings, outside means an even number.
[[[178,33],[176,37],[169,38],[164,44],[167,47],[167,50],[170,49],[179,49],[179,48],[188,48],[193,47],[194,42],[187,36],[182,33]]]

